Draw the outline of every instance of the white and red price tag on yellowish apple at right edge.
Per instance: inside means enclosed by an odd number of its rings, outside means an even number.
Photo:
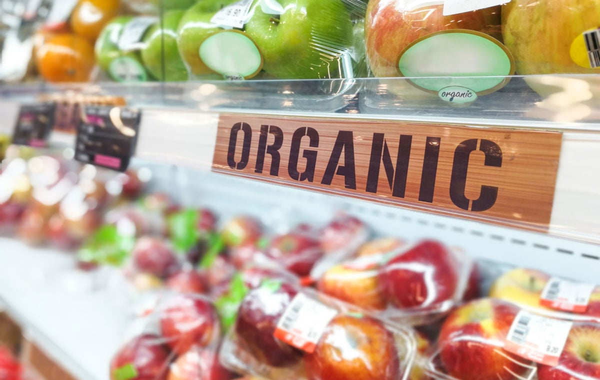
[[[542,291],[539,303],[552,309],[584,313],[594,288],[593,284],[579,284],[553,277]]]

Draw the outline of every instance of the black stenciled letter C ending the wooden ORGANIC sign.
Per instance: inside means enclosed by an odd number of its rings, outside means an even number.
[[[472,138],[458,144],[454,151],[454,162],[452,163],[452,178],[450,180],[450,199],[463,210],[469,210],[469,198],[465,197],[464,189],[467,182],[467,170],[469,168],[469,156],[477,149],[477,139]],[[479,150],[485,154],[485,166],[502,167],[502,149],[490,140],[481,140]],[[489,210],[498,196],[498,188],[495,186],[481,186],[479,198],[473,201],[471,210],[480,212]]]

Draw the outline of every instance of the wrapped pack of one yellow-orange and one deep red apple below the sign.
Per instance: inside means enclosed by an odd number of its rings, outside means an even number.
[[[385,238],[331,267],[317,289],[382,318],[423,325],[442,318],[464,298],[476,297],[478,273],[458,248],[433,240],[406,246]]]

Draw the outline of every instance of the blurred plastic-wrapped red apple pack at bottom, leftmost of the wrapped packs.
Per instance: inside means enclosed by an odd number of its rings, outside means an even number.
[[[208,298],[165,295],[152,313],[134,324],[110,362],[111,380],[227,380],[218,360],[221,327]]]

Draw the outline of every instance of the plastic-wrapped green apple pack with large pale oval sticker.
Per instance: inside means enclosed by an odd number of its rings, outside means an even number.
[[[210,0],[179,23],[191,79],[340,79],[365,73],[365,2]]]

